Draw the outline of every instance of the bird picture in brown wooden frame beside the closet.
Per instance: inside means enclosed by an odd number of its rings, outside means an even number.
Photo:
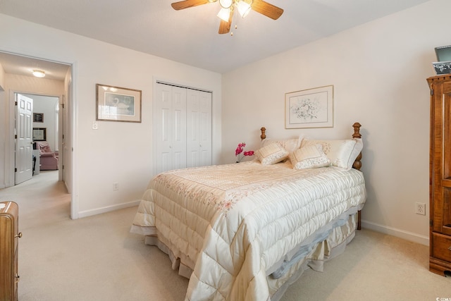
[[[141,122],[141,90],[96,84],[98,121]]]

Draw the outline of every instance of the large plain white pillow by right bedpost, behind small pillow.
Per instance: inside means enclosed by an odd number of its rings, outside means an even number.
[[[307,140],[304,139],[302,147],[321,144],[323,152],[332,162],[332,166],[338,166],[350,170],[354,160],[363,149],[362,139],[348,140]]]

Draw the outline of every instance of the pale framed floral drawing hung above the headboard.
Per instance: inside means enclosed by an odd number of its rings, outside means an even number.
[[[285,128],[333,128],[333,85],[285,93]]]

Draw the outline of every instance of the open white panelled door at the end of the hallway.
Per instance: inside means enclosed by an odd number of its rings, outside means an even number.
[[[33,99],[16,93],[16,185],[33,176]]]

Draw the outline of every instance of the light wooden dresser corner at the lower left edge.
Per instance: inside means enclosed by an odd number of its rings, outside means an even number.
[[[18,205],[0,202],[0,300],[17,300]]]

